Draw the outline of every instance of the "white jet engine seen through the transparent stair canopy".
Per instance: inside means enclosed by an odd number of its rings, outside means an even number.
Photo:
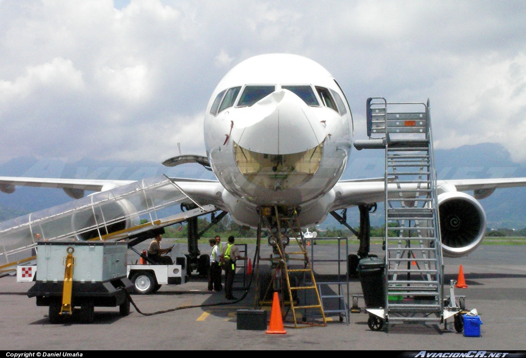
[[[94,215],[95,214],[95,215]],[[105,225],[105,223],[108,223]],[[108,201],[102,205],[88,207],[75,213],[71,219],[74,231],[80,231],[76,237],[89,240],[100,235],[115,233],[139,224],[137,209],[125,199]],[[98,226],[98,229],[97,229]],[[84,230],[86,228],[90,228]]]

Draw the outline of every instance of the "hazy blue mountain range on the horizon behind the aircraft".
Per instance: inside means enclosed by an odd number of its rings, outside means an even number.
[[[511,160],[510,153],[500,144],[464,145],[456,149],[434,151],[438,179],[491,178],[526,176],[526,163]],[[382,150],[354,150],[342,179],[383,177]],[[171,177],[214,179],[214,174],[198,164],[165,167],[155,162],[98,161],[84,158],[76,162],[62,159],[18,157],[0,164],[0,176],[97,178],[140,180],[166,174]],[[526,227],[526,188],[497,189],[481,204],[488,216],[488,228]],[[60,189],[17,187],[15,193],[0,193],[0,221],[35,212],[72,200]],[[382,225],[383,206],[371,215],[371,224]],[[359,223],[358,209],[348,210],[348,222]],[[321,227],[339,227],[331,216]]]

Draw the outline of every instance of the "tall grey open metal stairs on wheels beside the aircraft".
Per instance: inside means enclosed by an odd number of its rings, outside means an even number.
[[[369,328],[384,322],[443,322],[443,265],[436,172],[427,103],[367,100],[369,140],[385,150],[385,306],[368,308]]]

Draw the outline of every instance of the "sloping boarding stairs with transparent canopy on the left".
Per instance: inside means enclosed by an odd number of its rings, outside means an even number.
[[[159,218],[160,210],[183,202],[196,208]],[[35,262],[38,241],[128,239],[133,246],[152,237],[153,230],[216,210],[198,205],[164,175],[94,193],[0,223],[0,276]]]

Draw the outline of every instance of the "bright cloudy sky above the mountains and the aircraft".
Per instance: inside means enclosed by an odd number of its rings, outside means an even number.
[[[367,97],[431,100],[436,148],[526,162],[526,2],[0,0],[0,162],[204,154],[210,94],[266,52],[318,61],[365,138]]]

